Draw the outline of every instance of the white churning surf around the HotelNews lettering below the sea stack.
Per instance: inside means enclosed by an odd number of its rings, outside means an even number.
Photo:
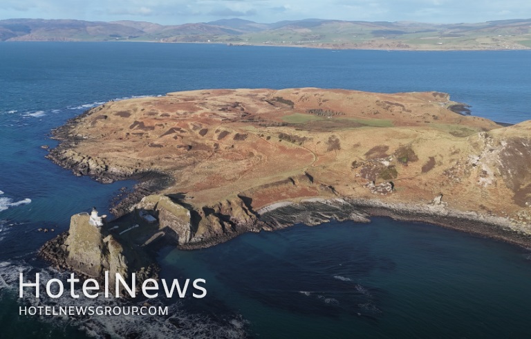
[[[53,268],[37,269],[25,262],[0,262],[0,291],[12,293],[18,296],[19,273],[33,276],[39,271],[39,279],[46,282],[52,278],[63,280],[65,286],[68,273],[55,271]],[[73,300],[68,297],[57,299],[49,298],[46,293],[42,293],[39,299],[29,290],[24,291],[24,297],[19,299],[20,306],[145,306],[145,300],[124,301],[119,298],[109,298],[95,300],[84,297],[81,291],[80,298]],[[54,292],[55,293],[55,292]],[[248,324],[240,315],[227,316],[220,320],[214,320],[209,315],[191,313],[183,309],[180,302],[174,304],[164,304],[159,298],[149,300],[149,306],[167,306],[167,315],[76,315],[76,316],[46,316],[32,315],[35,320],[50,322],[58,327],[71,324],[88,336],[94,338],[246,338],[245,327]]]

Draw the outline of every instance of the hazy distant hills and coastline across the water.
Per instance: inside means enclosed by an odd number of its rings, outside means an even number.
[[[531,19],[476,24],[243,19],[164,26],[141,21],[0,20],[0,41],[218,42],[319,48],[500,50],[531,48]]]

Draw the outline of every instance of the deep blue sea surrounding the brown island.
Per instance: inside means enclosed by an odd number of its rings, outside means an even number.
[[[46,160],[53,128],[109,100],[306,86],[442,91],[473,115],[517,123],[531,119],[531,52],[1,43],[0,338],[531,338],[531,249],[384,218],[163,248],[162,277],[203,278],[208,291],[155,301],[169,317],[18,315],[21,305],[60,304],[17,297],[19,272],[64,275],[36,257],[39,246],[72,214],[108,210],[134,185],[102,185]],[[89,302],[103,303],[79,303]]]

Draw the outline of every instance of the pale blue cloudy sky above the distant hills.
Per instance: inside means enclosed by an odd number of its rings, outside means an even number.
[[[530,0],[0,0],[0,19],[135,20],[186,24],[238,17],[455,24],[531,18]]]

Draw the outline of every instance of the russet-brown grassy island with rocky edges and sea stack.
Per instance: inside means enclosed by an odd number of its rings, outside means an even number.
[[[531,244],[531,121],[503,127],[439,92],[213,89],[107,102],[54,131],[48,158],[137,190],[44,257],[87,276],[156,272],[152,244],[383,215]],[[461,113],[456,113],[461,112]],[[93,255],[89,255],[90,251]]]

